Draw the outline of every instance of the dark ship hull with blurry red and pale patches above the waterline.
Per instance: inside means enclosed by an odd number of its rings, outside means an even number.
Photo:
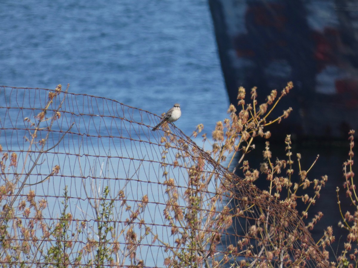
[[[274,116],[289,106],[294,111],[273,134],[346,140],[349,129],[358,129],[357,0],[209,5],[231,103],[239,86],[257,86],[260,103],[293,81]]]

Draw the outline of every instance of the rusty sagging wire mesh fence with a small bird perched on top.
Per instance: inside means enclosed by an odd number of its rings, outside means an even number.
[[[328,265],[295,211],[175,126],[151,131],[159,116],[61,85],[0,99],[0,263]]]

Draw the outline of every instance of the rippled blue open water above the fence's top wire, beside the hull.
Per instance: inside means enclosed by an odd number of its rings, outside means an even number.
[[[2,1],[0,85],[112,98],[211,133],[228,98],[207,1]]]

